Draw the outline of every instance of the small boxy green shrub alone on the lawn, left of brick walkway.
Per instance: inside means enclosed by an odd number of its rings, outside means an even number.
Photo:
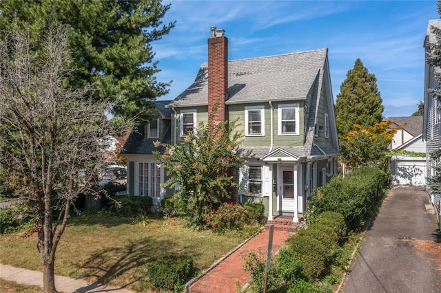
[[[193,259],[184,254],[166,255],[147,265],[147,277],[153,288],[181,292],[193,274]]]

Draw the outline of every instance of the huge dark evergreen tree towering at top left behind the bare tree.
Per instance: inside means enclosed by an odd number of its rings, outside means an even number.
[[[154,76],[159,69],[151,44],[174,27],[161,21],[169,8],[161,0],[2,0],[0,28],[8,30],[17,23],[28,29],[33,49],[39,50],[50,25],[65,25],[73,56],[70,66],[77,69],[70,87],[93,84],[95,99],[121,99],[112,109],[114,115],[132,117],[148,113],[152,100],[168,91],[169,83]]]

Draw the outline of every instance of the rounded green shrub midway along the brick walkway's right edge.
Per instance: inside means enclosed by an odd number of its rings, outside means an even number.
[[[302,275],[307,281],[318,279],[327,269],[328,253],[325,246],[309,235],[296,235],[289,239],[289,249],[303,263]]]

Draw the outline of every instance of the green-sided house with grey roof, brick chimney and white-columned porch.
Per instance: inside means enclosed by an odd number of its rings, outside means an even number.
[[[194,83],[174,100],[156,102],[158,120],[130,135],[127,192],[152,196],[156,203],[172,196],[173,191],[161,189],[164,171],[154,160],[152,142],[176,144],[209,116],[219,122],[238,118],[242,128],[236,130],[245,134],[238,153],[248,163],[237,180],[248,192],[236,199],[262,202],[269,220],[285,215],[296,222],[314,188],[336,174],[339,146],[328,50],[228,61],[227,47],[224,31],[212,28],[208,63]]]

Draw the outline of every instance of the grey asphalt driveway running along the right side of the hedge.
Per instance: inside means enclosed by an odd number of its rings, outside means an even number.
[[[384,199],[344,293],[441,292],[441,237],[424,188],[400,186]]]

